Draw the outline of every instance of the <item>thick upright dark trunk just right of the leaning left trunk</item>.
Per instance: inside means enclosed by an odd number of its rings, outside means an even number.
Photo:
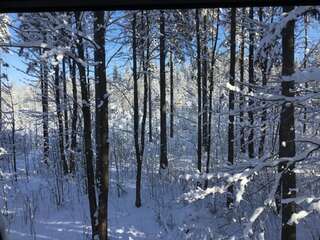
[[[95,67],[98,231],[100,240],[106,240],[108,239],[109,126],[104,11],[94,12],[94,18],[94,39],[100,46],[95,49],[95,62],[99,63]]]

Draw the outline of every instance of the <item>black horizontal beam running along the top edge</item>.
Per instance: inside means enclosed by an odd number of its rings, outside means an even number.
[[[0,0],[0,12],[316,5],[317,0]]]

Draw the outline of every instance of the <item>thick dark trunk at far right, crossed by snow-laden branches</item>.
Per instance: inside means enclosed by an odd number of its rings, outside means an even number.
[[[293,7],[283,7],[283,12],[287,13]],[[294,73],[294,28],[295,21],[291,20],[282,31],[282,75],[290,76]],[[294,81],[282,81],[281,93],[284,97],[294,97]],[[294,124],[294,104],[286,101],[282,104],[280,114],[279,129],[279,157],[292,158],[296,154],[295,147],[295,124]],[[281,176],[281,199],[288,200],[296,197],[296,176],[294,164],[283,163],[279,165]],[[296,212],[295,203],[282,203],[282,240],[296,239],[296,224],[288,224],[292,214]]]

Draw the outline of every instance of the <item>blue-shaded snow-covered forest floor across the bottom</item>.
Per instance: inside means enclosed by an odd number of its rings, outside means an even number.
[[[32,157],[37,157],[37,154],[32,153]],[[132,163],[128,164],[128,168],[122,166],[123,172],[119,178],[115,166],[111,165],[110,239],[241,239],[247,222],[242,212],[253,213],[262,196],[253,194],[256,202],[244,201],[244,205],[234,211],[225,208],[224,197],[207,198],[193,204],[179,201],[190,185],[195,185],[185,179],[188,175],[186,172],[192,174],[185,166],[193,166],[188,158],[170,160],[171,170],[167,179],[159,181],[161,176],[157,171],[144,169],[142,207],[139,209],[134,206],[135,171]],[[29,170],[27,177],[24,166],[24,159],[18,158],[17,181],[9,173],[12,171],[1,168],[0,175],[2,182],[5,182],[0,189],[1,211],[8,222],[9,239],[90,239],[84,176],[59,178],[55,172]],[[42,168],[30,166],[30,169]],[[117,187],[119,185],[121,187]],[[314,216],[299,224],[298,239],[317,239],[317,222],[319,217]],[[255,228],[258,232],[265,229],[264,237],[257,239],[278,239],[278,226],[279,218],[269,211],[268,216],[263,217]]]

